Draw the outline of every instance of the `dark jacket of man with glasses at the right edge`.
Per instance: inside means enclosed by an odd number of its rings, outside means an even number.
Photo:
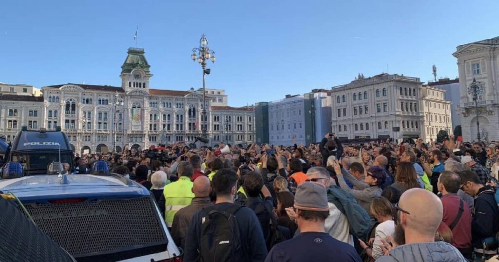
[[[490,237],[495,238],[499,231],[499,209],[491,186],[478,191],[471,228],[472,245],[475,248],[483,248],[482,242]]]

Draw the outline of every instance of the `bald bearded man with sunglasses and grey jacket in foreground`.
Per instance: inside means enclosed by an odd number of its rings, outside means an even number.
[[[444,213],[442,202],[435,194],[421,188],[409,189],[395,208],[394,248],[376,262],[467,261],[451,244],[435,242]]]

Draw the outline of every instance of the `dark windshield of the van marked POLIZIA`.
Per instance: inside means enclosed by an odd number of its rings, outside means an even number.
[[[45,174],[47,166],[50,163],[59,162],[59,152],[13,153],[12,162],[21,163],[26,174]],[[60,162],[68,163],[69,170],[73,169],[73,161],[70,153],[61,152]]]

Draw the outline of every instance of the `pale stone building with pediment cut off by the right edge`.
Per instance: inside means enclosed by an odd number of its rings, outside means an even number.
[[[476,141],[477,121],[482,140],[499,140],[499,37],[459,45],[453,55],[458,59],[461,93],[461,124],[463,139]],[[478,112],[468,87],[473,79],[482,83],[478,96]],[[478,117],[477,117],[478,113]]]

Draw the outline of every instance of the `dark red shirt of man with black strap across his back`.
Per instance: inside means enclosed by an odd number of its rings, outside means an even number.
[[[459,205],[461,198],[456,194],[447,194],[441,198],[444,206],[444,217],[442,221],[451,226],[454,219],[458,216]],[[452,230],[453,242],[452,245],[458,249],[471,247],[471,211],[466,201],[463,200],[464,212],[456,227]]]

